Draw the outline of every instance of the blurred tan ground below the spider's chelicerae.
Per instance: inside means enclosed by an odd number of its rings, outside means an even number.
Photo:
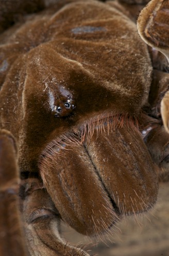
[[[99,256],[169,256],[169,183],[160,183],[156,206],[147,215],[125,218],[105,243],[97,245],[63,224],[63,236],[72,244],[82,242]],[[109,241],[110,240],[110,241]],[[80,246],[80,247],[81,247]]]

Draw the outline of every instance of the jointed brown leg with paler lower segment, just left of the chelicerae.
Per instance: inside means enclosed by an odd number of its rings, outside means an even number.
[[[43,183],[37,178],[22,183],[21,211],[30,255],[89,256],[60,236],[60,215]]]

